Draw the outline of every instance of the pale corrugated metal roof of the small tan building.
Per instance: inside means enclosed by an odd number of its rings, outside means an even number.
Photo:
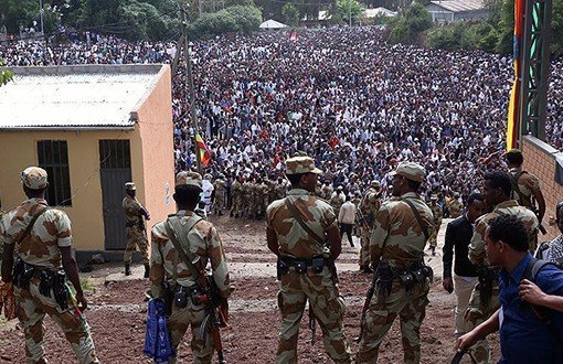
[[[47,68],[12,68],[0,87],[0,129],[131,129],[160,66]]]

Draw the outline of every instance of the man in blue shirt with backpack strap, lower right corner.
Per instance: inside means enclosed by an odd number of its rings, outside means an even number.
[[[500,329],[499,363],[561,363],[563,317],[550,312],[551,323],[539,319],[532,306],[522,301],[519,285],[532,256],[528,253],[528,236],[516,216],[500,215],[491,220],[485,233],[486,253],[492,266],[501,267],[499,299],[501,308],[487,321],[456,341],[458,351]],[[535,283],[548,295],[563,296],[563,271],[552,265],[543,267]]]

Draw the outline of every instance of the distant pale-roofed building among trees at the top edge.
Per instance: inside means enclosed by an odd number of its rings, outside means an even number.
[[[426,6],[432,20],[438,23],[458,20],[478,20],[487,18],[489,12],[484,0],[432,1]]]

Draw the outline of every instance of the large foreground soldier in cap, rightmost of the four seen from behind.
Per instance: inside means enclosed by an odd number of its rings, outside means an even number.
[[[370,257],[378,266],[378,283],[362,322],[363,334],[355,363],[378,362],[381,341],[397,315],[403,362],[421,361],[419,329],[428,303],[431,276],[423,256],[426,236],[434,229],[432,211],[417,193],[424,174],[424,169],[413,162],[401,162],[391,173],[393,196],[397,199],[384,203],[375,216]]]

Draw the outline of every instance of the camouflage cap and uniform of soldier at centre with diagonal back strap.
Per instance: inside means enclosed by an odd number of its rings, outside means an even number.
[[[293,170],[299,171],[299,165],[315,167],[310,158],[290,158],[286,161],[287,173]],[[314,169],[312,171],[318,170]],[[297,211],[302,213],[304,221],[318,236],[325,236],[330,228],[338,229],[337,218],[330,205],[308,191],[293,189],[287,193],[286,199],[289,199]],[[268,206],[266,215],[268,229],[277,236],[280,257],[309,259],[330,255],[328,247],[319,245],[291,216],[285,205],[285,199],[273,202]],[[282,276],[278,292],[282,329],[276,363],[297,363],[299,322],[307,300],[309,300],[315,317],[322,329],[328,355],[336,363],[350,363],[350,347],[342,323],[346,310],[344,301],[327,266],[319,274],[314,272],[310,268],[307,274],[299,274],[291,267],[287,274]]]

